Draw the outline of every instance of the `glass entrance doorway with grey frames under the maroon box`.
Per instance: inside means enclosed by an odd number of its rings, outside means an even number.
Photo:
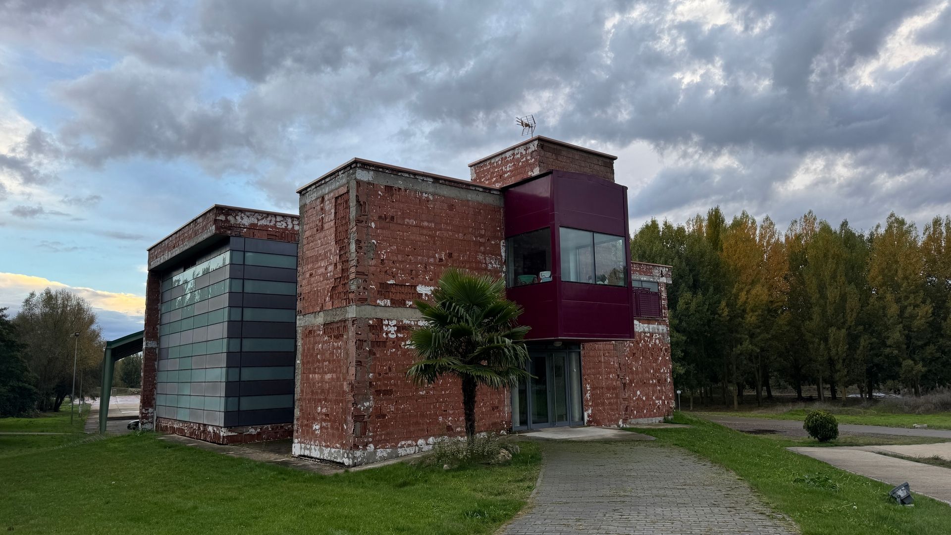
[[[581,347],[529,347],[532,377],[512,389],[512,428],[582,426]]]

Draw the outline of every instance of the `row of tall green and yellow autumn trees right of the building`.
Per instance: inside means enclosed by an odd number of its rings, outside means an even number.
[[[691,402],[951,384],[951,217],[920,231],[892,213],[864,232],[809,211],[784,230],[711,208],[682,225],[651,220],[631,255],[673,268],[674,383]]]

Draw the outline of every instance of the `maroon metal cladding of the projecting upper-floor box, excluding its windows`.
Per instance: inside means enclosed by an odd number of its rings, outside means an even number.
[[[528,338],[625,340],[633,338],[631,269],[626,287],[562,282],[559,227],[625,237],[631,257],[627,189],[592,175],[553,170],[505,188],[505,235],[552,228],[553,281],[508,288],[525,308],[519,322]]]

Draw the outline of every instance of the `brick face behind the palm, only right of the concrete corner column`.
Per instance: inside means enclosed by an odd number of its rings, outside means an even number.
[[[428,184],[428,183],[423,183]],[[374,182],[358,182],[361,216],[357,219],[359,272],[358,303],[377,307],[413,307],[427,299],[449,266],[501,277],[503,229],[498,195],[461,186],[443,186],[441,192]],[[485,200],[494,201],[492,204]],[[415,312],[415,309],[413,310]],[[380,313],[380,316],[393,314]],[[462,397],[458,381],[440,381],[419,387],[406,369],[415,352],[406,347],[413,318],[375,318],[358,339],[358,360],[372,379],[359,395],[355,418],[367,422],[358,448],[406,447],[430,443],[443,435],[464,435]],[[360,395],[361,394],[361,395]],[[476,422],[479,430],[511,425],[504,392],[480,389]],[[355,400],[356,401],[356,400]],[[365,407],[365,408],[364,408]]]

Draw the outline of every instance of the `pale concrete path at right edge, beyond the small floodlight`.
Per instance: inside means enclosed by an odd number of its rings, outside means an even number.
[[[789,447],[791,451],[888,485],[908,482],[913,493],[951,505],[951,469],[925,465],[875,453],[877,448],[899,446]]]

